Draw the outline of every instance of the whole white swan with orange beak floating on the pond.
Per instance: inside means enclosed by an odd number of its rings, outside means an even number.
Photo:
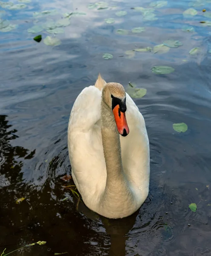
[[[67,135],[72,179],[84,204],[107,218],[136,212],[149,192],[149,139],[124,87],[99,74],[75,100]]]

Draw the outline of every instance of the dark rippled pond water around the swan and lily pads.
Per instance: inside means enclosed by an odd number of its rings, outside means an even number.
[[[89,3],[32,0],[25,9],[4,9],[2,19],[18,27],[0,32],[0,253],[41,240],[47,243],[11,255],[211,255],[211,27],[200,23],[211,21],[202,12],[210,11],[211,2],[169,0],[155,9],[154,21],[131,9],[147,8],[147,0],[109,1],[117,7],[101,10],[88,9]],[[33,41],[40,33],[27,32],[37,22],[33,12],[57,9],[57,15],[41,19],[54,20],[76,8],[87,15],[71,17],[65,33],[56,35],[61,39],[56,47]],[[188,8],[198,14],[183,17]],[[120,10],[127,15],[116,16]],[[116,22],[105,23],[109,17]],[[182,31],[184,25],[195,32]],[[139,26],[145,32],[116,34],[116,29]],[[183,45],[164,54],[125,54],[168,38]],[[194,47],[200,51],[190,55]],[[102,58],[105,52],[113,59]],[[155,65],[175,71],[156,75],[151,72]],[[106,81],[125,87],[131,81],[147,89],[134,100],[150,139],[150,192],[138,212],[121,220],[101,218],[82,202],[77,206],[63,188],[72,181],[61,179],[71,173],[69,113],[99,72]],[[188,125],[185,133],[172,128],[180,122]],[[66,196],[70,199],[61,201]],[[195,213],[188,208],[191,203],[197,204]]]

